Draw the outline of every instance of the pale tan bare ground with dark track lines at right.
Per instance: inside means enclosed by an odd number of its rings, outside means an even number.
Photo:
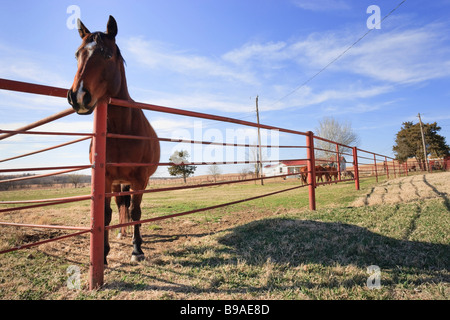
[[[442,198],[447,207],[450,197],[450,172],[420,174],[386,181],[355,200],[351,206],[397,204]]]

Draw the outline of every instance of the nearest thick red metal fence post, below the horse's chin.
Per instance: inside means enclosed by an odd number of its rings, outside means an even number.
[[[94,139],[92,153],[91,187],[91,245],[89,289],[103,285],[105,241],[105,166],[106,115],[108,105],[98,103],[94,113]]]

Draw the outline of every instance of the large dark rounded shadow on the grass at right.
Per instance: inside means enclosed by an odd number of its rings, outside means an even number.
[[[311,220],[271,219],[235,228],[219,239],[250,264],[353,264],[359,267],[450,269],[450,246],[397,240],[359,226]],[[447,279],[449,280],[449,279]]]

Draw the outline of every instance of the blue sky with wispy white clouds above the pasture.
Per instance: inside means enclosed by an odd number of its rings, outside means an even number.
[[[449,142],[450,1],[407,0],[380,29],[294,90],[368,31],[370,5],[384,17],[400,2],[2,1],[0,77],[68,88],[80,38],[67,27],[67,9],[76,5],[91,31],[104,31],[110,14],[116,18],[117,44],[136,101],[256,121],[258,95],[261,123],[314,131],[324,116],[333,116],[351,122],[359,147],[392,156],[402,122],[416,122],[419,112],[424,122],[437,121]],[[64,99],[0,91],[0,128],[14,129],[67,107]],[[202,138],[227,139],[226,129],[233,128],[160,113],[147,117],[169,138],[194,138],[200,125]],[[92,119],[73,115],[40,130],[90,132]],[[244,134],[249,141],[255,137],[253,131]],[[280,144],[293,143],[292,137],[280,138]],[[1,158],[67,140],[15,137],[0,142]],[[295,143],[303,145],[304,139]],[[174,147],[163,148],[165,162]],[[203,151],[193,160],[207,158]],[[2,167],[46,166],[49,159],[86,164],[87,144]]]

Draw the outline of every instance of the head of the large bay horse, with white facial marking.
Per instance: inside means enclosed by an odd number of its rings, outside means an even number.
[[[118,94],[123,58],[116,45],[117,23],[112,16],[106,33],[91,33],[79,19],[78,32],[82,39],[75,54],[78,70],[67,99],[78,114],[90,114],[98,102]]]

